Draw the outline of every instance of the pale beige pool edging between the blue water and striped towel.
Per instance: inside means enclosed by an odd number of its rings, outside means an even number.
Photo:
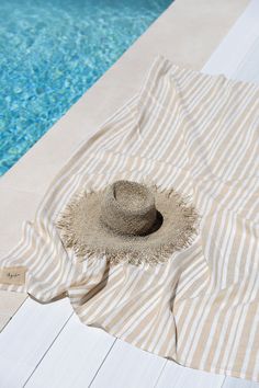
[[[21,237],[21,225],[36,207],[74,150],[142,83],[157,54],[201,69],[248,0],[176,0],[113,67],[0,180],[0,219],[4,221],[0,254]]]

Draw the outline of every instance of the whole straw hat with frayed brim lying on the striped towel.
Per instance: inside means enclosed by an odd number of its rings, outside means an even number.
[[[57,227],[65,247],[81,260],[104,254],[112,264],[158,263],[191,243],[196,218],[173,190],[116,181],[75,196]]]

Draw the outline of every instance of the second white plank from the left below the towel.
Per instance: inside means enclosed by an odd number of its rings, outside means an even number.
[[[94,378],[115,339],[71,317],[26,383],[26,388],[86,388]]]

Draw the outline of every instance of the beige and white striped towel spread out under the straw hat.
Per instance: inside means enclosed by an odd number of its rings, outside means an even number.
[[[156,58],[139,93],[56,176],[1,260],[12,270],[0,288],[41,301],[66,294],[86,324],[189,367],[258,381],[258,87]],[[156,266],[79,263],[55,226],[72,195],[147,176],[191,198],[201,217],[192,246]],[[24,284],[11,276],[19,266]]]

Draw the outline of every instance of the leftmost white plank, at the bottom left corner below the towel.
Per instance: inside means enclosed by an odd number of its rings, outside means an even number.
[[[27,298],[0,334],[0,386],[21,388],[72,315],[68,299]]]

